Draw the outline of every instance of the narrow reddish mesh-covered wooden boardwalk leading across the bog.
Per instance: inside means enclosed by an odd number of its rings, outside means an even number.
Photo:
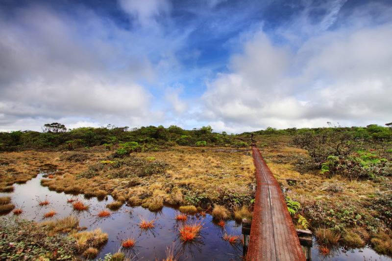
[[[305,261],[282,190],[261,153],[252,146],[257,190],[247,261]]]

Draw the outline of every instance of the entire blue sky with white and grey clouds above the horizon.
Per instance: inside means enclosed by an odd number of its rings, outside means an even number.
[[[392,118],[389,0],[0,1],[0,131]]]

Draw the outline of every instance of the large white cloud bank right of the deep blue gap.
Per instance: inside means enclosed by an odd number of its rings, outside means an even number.
[[[232,57],[231,72],[208,83],[199,119],[233,130],[384,125],[392,111],[390,43],[391,22],[318,34],[298,50],[257,32]]]

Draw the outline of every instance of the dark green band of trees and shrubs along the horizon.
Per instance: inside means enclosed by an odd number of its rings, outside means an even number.
[[[366,128],[317,128],[317,129],[286,129],[276,130],[267,128],[254,131],[255,135],[290,135],[297,136],[304,133],[349,133],[350,139],[391,141],[391,128],[377,125],[368,125]],[[183,130],[177,126],[164,128],[163,126],[141,127],[129,129],[128,127],[115,127],[108,125],[101,128],[77,128],[67,130],[59,123],[45,124],[43,132],[38,131],[12,131],[0,132],[0,151],[18,150],[73,150],[77,148],[103,146],[110,149],[112,146],[134,146],[138,150],[158,150],[160,148],[181,146],[226,146],[247,147],[250,142],[250,132],[242,134],[227,134],[226,132],[213,132],[210,126],[200,129]],[[130,144],[132,143],[132,144]]]

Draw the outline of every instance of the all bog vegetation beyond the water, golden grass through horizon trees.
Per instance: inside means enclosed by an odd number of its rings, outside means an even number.
[[[325,253],[339,242],[351,247],[369,243],[392,255],[391,128],[267,128],[255,131],[254,139],[286,191],[295,226],[311,229]],[[250,142],[250,132],[216,133],[210,126],[190,131],[177,126],[129,130],[111,125],[67,130],[52,123],[43,132],[1,132],[0,192],[12,192],[14,183],[48,171],[43,186],[67,194],[112,195],[116,201],[107,205],[112,211],[124,203],[150,211],[169,204],[180,206],[186,215],[208,211],[224,227],[227,218],[252,217],[254,166],[245,151]],[[242,149],[215,150],[224,148]],[[71,203],[80,211],[88,208],[83,202]],[[1,198],[2,214],[14,208]],[[177,219],[186,221],[186,215]],[[153,221],[142,220],[139,225],[147,227]],[[29,224],[35,231],[34,226]],[[184,241],[198,237],[197,227],[191,230],[184,224],[181,229]],[[83,237],[87,235],[67,240]],[[77,251],[92,258],[97,253],[91,248],[99,247],[83,245]]]

